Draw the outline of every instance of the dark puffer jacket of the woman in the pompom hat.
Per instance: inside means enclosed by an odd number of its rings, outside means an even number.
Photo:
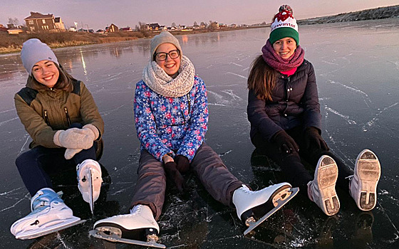
[[[251,139],[260,132],[270,141],[281,129],[298,126],[321,130],[316,75],[309,61],[304,60],[294,75],[287,77],[279,73],[271,97],[272,101],[260,100],[253,90],[249,90],[247,113]]]

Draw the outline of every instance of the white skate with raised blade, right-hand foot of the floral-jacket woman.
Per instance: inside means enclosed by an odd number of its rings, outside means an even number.
[[[237,208],[238,218],[249,226],[244,235],[269,218],[284,206],[297,193],[298,188],[291,188],[286,182],[268,186],[259,191],[251,191],[245,185],[233,193],[233,203]]]

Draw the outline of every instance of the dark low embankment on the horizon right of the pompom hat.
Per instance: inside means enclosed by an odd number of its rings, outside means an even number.
[[[321,16],[298,20],[298,24],[338,23],[343,21],[361,21],[371,19],[399,18],[399,5],[365,9],[363,11],[342,13],[335,16]]]

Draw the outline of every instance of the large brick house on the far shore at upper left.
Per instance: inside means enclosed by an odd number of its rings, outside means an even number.
[[[53,14],[43,15],[41,13],[31,11],[31,16],[24,18],[24,20],[26,22],[26,27],[28,28],[29,33],[42,31],[65,31],[65,26],[61,21],[61,17],[54,17]]]

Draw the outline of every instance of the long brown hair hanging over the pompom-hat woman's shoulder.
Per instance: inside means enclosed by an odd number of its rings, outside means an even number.
[[[259,55],[252,63],[248,77],[248,89],[253,90],[261,100],[271,101],[271,90],[276,85],[277,72]]]

